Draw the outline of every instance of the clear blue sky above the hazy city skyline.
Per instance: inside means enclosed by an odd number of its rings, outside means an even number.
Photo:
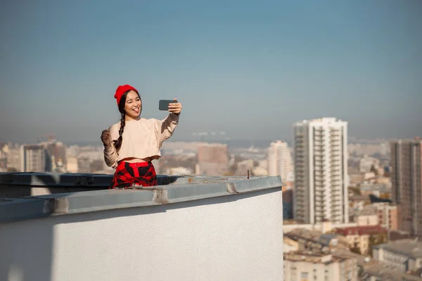
[[[86,2],[86,3],[85,3]],[[1,1],[0,141],[99,141],[116,87],[184,109],[173,140],[290,139],[338,117],[357,138],[422,134],[422,2]]]

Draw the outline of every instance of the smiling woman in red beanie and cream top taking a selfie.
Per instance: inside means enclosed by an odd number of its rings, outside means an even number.
[[[181,104],[170,103],[165,119],[145,119],[139,117],[142,101],[134,87],[118,86],[114,97],[122,118],[101,134],[104,160],[116,169],[109,189],[157,185],[151,160],[161,157],[162,142],[172,136],[179,123]]]

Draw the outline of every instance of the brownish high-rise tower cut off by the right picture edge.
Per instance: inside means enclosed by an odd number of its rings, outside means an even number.
[[[422,237],[422,141],[390,142],[392,201],[397,204],[399,230]]]

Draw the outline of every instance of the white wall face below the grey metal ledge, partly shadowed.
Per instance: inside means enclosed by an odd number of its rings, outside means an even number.
[[[281,190],[0,225],[0,280],[283,280]]]

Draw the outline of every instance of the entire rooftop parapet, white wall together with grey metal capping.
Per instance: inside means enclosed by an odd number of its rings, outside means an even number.
[[[84,176],[89,191],[68,181],[55,193],[75,174],[13,174],[1,186],[52,194],[0,200],[0,280],[283,280],[280,177],[104,190],[110,176]]]

